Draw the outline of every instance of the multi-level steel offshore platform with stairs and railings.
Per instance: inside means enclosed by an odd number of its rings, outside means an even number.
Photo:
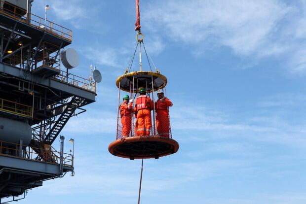
[[[78,64],[76,52],[64,50],[72,31],[32,14],[32,2],[0,0],[1,204],[74,172],[60,132],[96,97],[96,81],[69,72]]]

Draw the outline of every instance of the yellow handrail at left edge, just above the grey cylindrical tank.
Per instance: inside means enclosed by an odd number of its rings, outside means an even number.
[[[24,116],[27,118],[33,118],[32,106],[18,102],[8,101],[5,99],[0,99],[0,111]]]

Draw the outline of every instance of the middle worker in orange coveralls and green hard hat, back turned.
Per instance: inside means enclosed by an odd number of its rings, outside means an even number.
[[[150,136],[152,120],[151,110],[153,102],[149,96],[146,96],[146,90],[139,88],[139,96],[136,99],[134,111],[137,112],[137,136]]]

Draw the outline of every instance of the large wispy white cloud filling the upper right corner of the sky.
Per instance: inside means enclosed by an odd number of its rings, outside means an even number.
[[[144,9],[153,34],[191,44],[195,56],[226,46],[252,61],[275,57],[291,73],[306,71],[305,1],[168,0]]]

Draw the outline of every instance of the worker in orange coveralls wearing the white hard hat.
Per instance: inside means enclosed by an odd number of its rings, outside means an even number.
[[[158,99],[155,102],[157,133],[159,136],[169,137],[169,106],[173,104],[168,98],[164,97],[162,89],[157,91],[157,97]]]

